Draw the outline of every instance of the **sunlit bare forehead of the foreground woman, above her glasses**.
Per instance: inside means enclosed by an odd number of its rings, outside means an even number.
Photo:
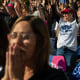
[[[33,30],[28,21],[21,21],[17,23],[12,30],[12,32],[31,32],[31,31]]]

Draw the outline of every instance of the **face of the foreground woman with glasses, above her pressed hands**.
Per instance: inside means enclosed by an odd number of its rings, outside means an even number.
[[[36,35],[29,22],[21,21],[17,23],[10,34],[10,46],[16,45],[16,50],[29,60],[32,58],[36,47]],[[15,53],[18,54],[18,53]]]

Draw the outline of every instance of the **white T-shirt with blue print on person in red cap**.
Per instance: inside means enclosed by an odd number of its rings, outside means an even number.
[[[60,31],[57,40],[57,48],[68,47],[72,51],[77,50],[77,31],[79,25],[76,20],[73,22],[60,21],[58,25]]]

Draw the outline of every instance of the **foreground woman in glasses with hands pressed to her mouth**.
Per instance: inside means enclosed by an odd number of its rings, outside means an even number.
[[[1,80],[67,80],[61,70],[49,67],[49,33],[38,17],[20,17],[8,35],[5,75]]]

